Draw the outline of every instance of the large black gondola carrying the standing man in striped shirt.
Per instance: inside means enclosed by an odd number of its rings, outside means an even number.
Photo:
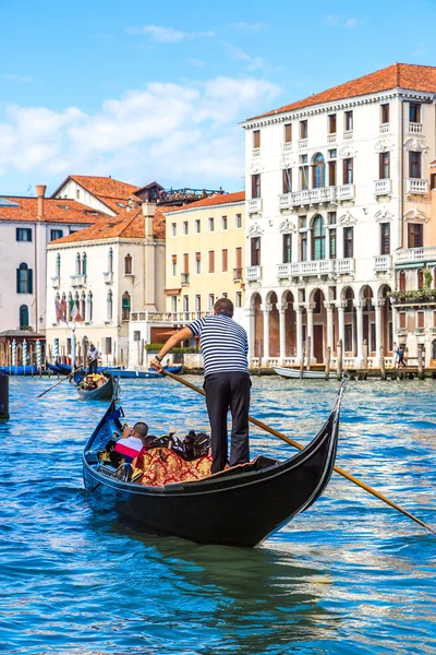
[[[97,453],[113,430],[121,429],[112,400],[84,450],[85,488],[97,510],[113,510],[147,534],[198,544],[259,545],[326,488],[335,465],[343,389],[342,384],[318,434],[289,460],[258,456],[198,481],[166,487],[124,483],[100,471]]]

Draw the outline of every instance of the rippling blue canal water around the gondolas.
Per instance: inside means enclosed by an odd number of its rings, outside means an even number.
[[[201,383],[199,378],[193,381]],[[436,536],[334,474],[258,549],[144,537],[95,514],[81,453],[105,410],[68,382],[11,379],[0,426],[0,652],[436,653]],[[337,383],[254,378],[252,414],[306,443]],[[351,382],[337,464],[436,524],[435,382]],[[170,380],[123,381],[131,420],[205,428]],[[293,450],[261,434],[252,453]]]

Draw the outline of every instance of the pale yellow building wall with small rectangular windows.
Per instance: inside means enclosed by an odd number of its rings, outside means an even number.
[[[237,215],[240,216],[239,223]],[[223,217],[227,217],[227,229]],[[211,230],[210,219],[214,222],[214,230]],[[196,231],[197,221],[199,221],[199,231]],[[214,296],[214,300],[217,300],[227,294],[235,308],[244,306],[244,202],[204,209],[186,207],[170,212],[166,214],[166,231],[168,312],[189,312],[192,315],[186,315],[185,319],[195,318],[198,311],[203,313],[210,310],[210,303],[213,305],[210,295]],[[237,262],[237,248],[241,248],[240,265]],[[227,271],[222,270],[223,250],[228,252]],[[214,252],[214,273],[209,272],[209,252]],[[201,258],[199,271],[196,253],[199,253]],[[185,255],[187,255],[187,271],[185,271]],[[238,273],[242,273],[242,278],[234,279],[238,277],[234,270],[239,267],[241,271]],[[185,273],[189,273],[187,279]],[[199,297],[199,306],[196,297]]]

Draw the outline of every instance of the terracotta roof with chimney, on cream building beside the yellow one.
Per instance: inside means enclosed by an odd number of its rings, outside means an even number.
[[[153,236],[155,239],[165,239],[165,216],[159,207],[153,221]],[[145,239],[145,218],[140,207],[136,210],[122,210],[118,216],[98,221],[92,227],[86,227],[72,235],[51,241],[51,246],[61,243],[75,243],[80,241],[98,241],[100,239]]]

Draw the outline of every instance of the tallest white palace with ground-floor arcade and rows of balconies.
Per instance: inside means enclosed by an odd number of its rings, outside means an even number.
[[[256,364],[370,365],[397,337],[392,254],[429,216],[436,68],[393,64],[254,117],[246,133],[246,305]],[[420,227],[421,226],[421,227]],[[410,246],[412,243],[412,246]]]

